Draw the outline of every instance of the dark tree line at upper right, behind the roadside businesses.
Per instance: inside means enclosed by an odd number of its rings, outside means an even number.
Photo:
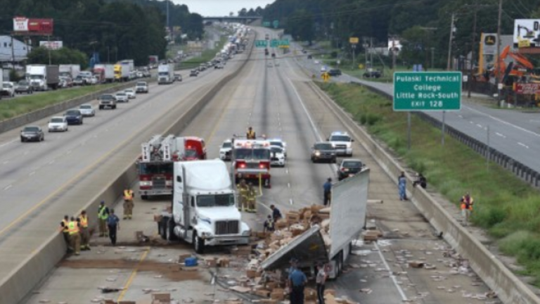
[[[375,46],[387,46],[388,37],[399,37],[401,59],[410,63],[446,66],[451,15],[456,19],[451,49],[466,56],[473,41],[476,11],[477,31],[495,33],[498,0],[276,0],[263,10],[265,21],[279,20],[285,33],[311,42],[330,40],[333,46],[350,50],[349,37],[359,37],[356,51],[363,51],[363,37]],[[540,16],[540,0],[503,1],[501,33],[513,34],[514,19]],[[477,50],[477,44],[475,44]],[[433,58],[432,58],[433,56]]]

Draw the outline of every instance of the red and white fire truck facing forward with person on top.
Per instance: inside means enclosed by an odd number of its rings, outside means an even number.
[[[264,137],[257,139],[235,137],[232,141],[232,166],[236,181],[255,179],[257,182],[263,182],[266,188],[270,188],[270,141]]]

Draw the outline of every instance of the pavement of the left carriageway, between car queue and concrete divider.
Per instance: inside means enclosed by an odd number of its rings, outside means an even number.
[[[117,110],[96,110],[84,125],[21,143],[19,130],[0,134],[0,278],[36,251],[63,215],[72,215],[140,154],[141,143],[163,129],[236,69],[207,70],[184,82],[151,85]],[[96,102],[94,102],[94,105]],[[62,115],[62,113],[58,113]],[[36,122],[46,129],[47,120]]]

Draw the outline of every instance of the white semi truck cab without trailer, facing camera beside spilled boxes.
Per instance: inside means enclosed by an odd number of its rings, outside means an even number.
[[[248,245],[251,229],[238,211],[227,166],[222,160],[174,163],[172,213],[162,213],[163,239],[191,243],[196,253],[206,246]]]

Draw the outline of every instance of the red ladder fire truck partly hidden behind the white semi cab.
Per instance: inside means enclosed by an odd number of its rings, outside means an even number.
[[[172,194],[174,162],[206,159],[205,141],[199,137],[155,135],[141,148],[142,154],[136,165],[139,195],[143,200],[148,196]]]

